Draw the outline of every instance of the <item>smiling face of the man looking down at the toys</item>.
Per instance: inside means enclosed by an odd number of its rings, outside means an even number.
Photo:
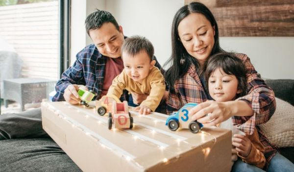
[[[104,23],[100,28],[90,30],[89,35],[102,55],[111,58],[121,56],[124,41],[122,26],[117,30],[112,23]]]

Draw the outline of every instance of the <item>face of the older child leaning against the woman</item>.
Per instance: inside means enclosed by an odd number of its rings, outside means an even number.
[[[210,96],[219,102],[234,100],[241,92],[236,76],[225,74],[220,68],[209,76],[208,89]]]

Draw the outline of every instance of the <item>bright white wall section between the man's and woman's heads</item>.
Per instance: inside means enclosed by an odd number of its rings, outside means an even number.
[[[171,28],[175,12],[184,0],[107,0],[126,36],[142,35],[151,41],[161,65],[171,55]]]

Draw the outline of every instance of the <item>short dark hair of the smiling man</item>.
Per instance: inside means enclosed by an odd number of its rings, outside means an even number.
[[[116,29],[120,30],[119,24],[110,12],[96,9],[95,12],[89,14],[85,21],[86,31],[88,35],[90,30],[98,29],[104,23],[108,22],[112,23],[116,27]]]

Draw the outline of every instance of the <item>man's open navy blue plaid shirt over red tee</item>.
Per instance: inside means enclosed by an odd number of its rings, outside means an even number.
[[[67,69],[56,83],[56,94],[52,101],[64,101],[64,90],[70,84],[87,86],[89,90],[94,90],[97,93],[96,99],[99,99],[104,83],[106,58],[109,57],[102,55],[94,44],[90,44],[78,52],[73,66]],[[156,57],[154,56],[153,59],[156,60]],[[157,60],[155,66],[162,70]],[[128,99],[128,92],[124,90],[121,100],[128,101]]]

